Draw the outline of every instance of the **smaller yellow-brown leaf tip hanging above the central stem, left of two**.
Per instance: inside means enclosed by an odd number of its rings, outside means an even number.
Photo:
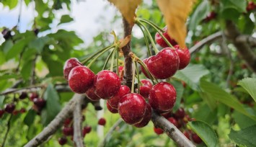
[[[123,17],[129,22],[133,24],[133,19],[136,17],[135,11],[139,4],[141,4],[141,0],[108,0],[110,3],[114,4],[115,7],[121,12]]]

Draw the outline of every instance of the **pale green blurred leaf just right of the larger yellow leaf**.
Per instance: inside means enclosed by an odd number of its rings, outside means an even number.
[[[192,14],[190,23],[188,25],[190,30],[195,30],[195,27],[198,26],[199,22],[203,20],[208,12],[210,11],[210,4],[207,0],[203,0],[195,9],[195,12]]]

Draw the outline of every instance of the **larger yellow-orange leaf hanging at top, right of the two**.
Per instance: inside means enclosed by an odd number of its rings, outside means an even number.
[[[184,48],[187,29],[185,22],[192,9],[194,0],[157,0],[159,9],[164,14],[168,35]]]

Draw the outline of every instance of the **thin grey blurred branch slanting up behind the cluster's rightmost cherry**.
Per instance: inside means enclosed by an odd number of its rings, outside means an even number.
[[[203,40],[200,40],[200,42],[196,43],[192,48],[190,48],[190,53],[194,53],[196,50],[199,50],[203,47],[203,45],[206,45],[207,43],[211,43],[214,40],[217,40],[222,37],[222,32],[216,32],[206,38],[203,38]]]

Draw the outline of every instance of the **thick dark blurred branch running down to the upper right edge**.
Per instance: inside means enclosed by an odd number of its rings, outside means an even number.
[[[229,20],[226,21],[225,35],[237,48],[239,55],[242,57],[242,59],[244,59],[247,67],[249,67],[251,71],[256,73],[256,55],[251,50],[247,39],[244,39],[244,35],[240,34],[234,22],[231,22]]]

